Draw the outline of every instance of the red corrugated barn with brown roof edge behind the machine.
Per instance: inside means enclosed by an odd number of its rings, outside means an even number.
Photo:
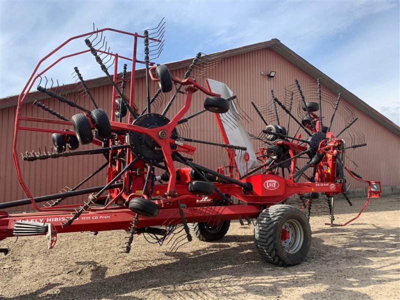
[[[208,77],[226,83],[237,96],[241,110],[245,112],[248,119],[252,120],[245,123],[249,132],[260,132],[263,127],[263,123],[250,102],[254,101],[258,105],[267,107],[266,104],[270,103],[271,100],[271,89],[278,92],[283,90],[285,86],[292,85],[295,79],[298,79],[301,83],[315,82],[316,78],[319,78],[325,95],[336,98],[340,92],[342,95],[341,103],[353,110],[354,115],[358,117],[358,120],[352,125],[352,130],[357,131],[359,136],[363,136],[364,141],[367,143],[367,146],[355,149],[351,156],[351,159],[358,165],[357,172],[365,178],[380,180],[383,193],[400,193],[400,159],[398,159],[400,156],[400,151],[398,150],[400,127],[396,124],[340,86],[277,39],[223,51],[220,53],[219,59],[219,63]],[[166,65],[172,75],[183,77],[191,60],[185,59],[167,63]],[[270,71],[276,72],[273,77],[266,76]],[[86,82],[99,107],[109,113],[112,89],[107,79],[100,77],[86,80]],[[75,84],[71,84],[70,88],[75,92],[72,98],[78,97],[79,103],[82,104],[89,101],[87,95],[78,96]],[[156,84],[152,82],[151,92],[154,93],[156,89]],[[135,104],[141,109],[145,105],[143,70],[136,71],[134,92]],[[169,96],[165,95],[165,99],[168,99]],[[32,107],[31,105],[31,102],[35,99],[39,99],[43,104],[60,112],[68,119],[71,115],[77,113],[72,107],[36,91],[28,95],[23,105],[22,114],[37,116],[38,113],[39,115],[43,113],[43,117],[46,116],[45,112],[32,112],[37,110],[37,107]],[[16,103],[17,96],[0,99],[0,148],[2,153],[0,157],[0,191],[2,195],[0,202],[26,197],[17,182],[11,155]],[[176,99],[169,114],[175,113],[180,104],[179,98]],[[203,95],[200,93],[194,94],[190,113],[202,109],[202,105]],[[323,110],[326,118],[330,116],[331,107],[324,105]],[[185,129],[186,134],[189,134],[187,136],[208,141],[221,141],[212,113],[206,113],[201,118],[193,118],[188,124],[190,131],[188,130],[189,128]],[[338,132],[345,125],[345,123],[339,121],[333,122],[332,131]],[[294,124],[291,124],[291,126],[290,131],[294,132]],[[44,150],[44,146],[47,149],[50,148],[50,134],[35,133],[33,136],[29,131],[19,133],[18,150],[20,152],[31,151],[32,149],[37,151],[39,148]],[[221,164],[220,157],[223,156],[223,153],[219,149],[215,150],[215,148],[201,144],[196,146],[198,150],[193,157],[194,161],[213,169]],[[74,186],[103,162],[104,157],[102,155],[90,155],[35,162],[21,161],[21,165],[24,180],[32,191],[33,196],[39,196],[56,193],[63,188],[68,189],[68,187]],[[105,171],[93,177],[83,187],[102,185],[104,181]],[[354,192],[362,191],[362,185],[356,181],[350,180],[350,182],[352,183],[351,189]],[[76,197],[73,201],[81,202],[84,197]],[[71,204],[71,202],[66,202],[65,204]],[[29,210],[31,206],[25,205],[12,209]]]

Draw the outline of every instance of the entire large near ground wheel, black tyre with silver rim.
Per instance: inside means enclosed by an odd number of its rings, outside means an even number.
[[[295,265],[308,253],[311,228],[305,214],[297,208],[283,204],[272,205],[258,215],[254,226],[254,241],[258,252],[268,262]]]

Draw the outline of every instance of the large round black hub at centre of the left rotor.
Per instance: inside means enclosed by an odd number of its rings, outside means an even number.
[[[133,125],[143,128],[157,128],[166,125],[169,119],[158,113],[146,113],[133,121]],[[177,139],[176,128],[173,128],[170,138]],[[159,163],[164,161],[160,146],[148,135],[130,131],[126,135],[126,142],[132,152],[144,162]],[[170,144],[171,149],[176,145]]]

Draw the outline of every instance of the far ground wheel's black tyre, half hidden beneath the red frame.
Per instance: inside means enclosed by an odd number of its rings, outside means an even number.
[[[219,221],[217,224],[187,223],[190,234],[202,241],[215,241],[225,236],[229,230],[230,221]]]

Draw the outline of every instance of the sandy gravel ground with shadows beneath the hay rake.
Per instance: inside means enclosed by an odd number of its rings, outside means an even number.
[[[354,205],[337,203],[336,222]],[[193,240],[172,253],[137,236],[120,253],[126,233],[60,234],[54,249],[40,237],[0,241],[1,299],[399,299],[400,196],[372,199],[346,227],[311,216],[312,243],[301,264],[280,267],[256,252],[252,225],[232,222],[218,242]]]

